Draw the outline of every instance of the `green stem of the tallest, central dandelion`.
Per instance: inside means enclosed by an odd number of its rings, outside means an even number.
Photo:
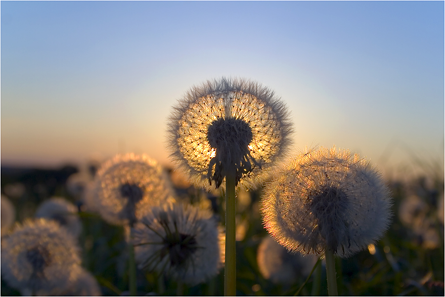
[[[225,176],[224,296],[236,295],[235,170]]]

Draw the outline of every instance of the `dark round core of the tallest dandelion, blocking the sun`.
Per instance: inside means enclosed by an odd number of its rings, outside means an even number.
[[[252,138],[252,129],[241,119],[220,118],[210,124],[207,132],[210,146],[217,150],[230,150],[231,147],[247,150]]]

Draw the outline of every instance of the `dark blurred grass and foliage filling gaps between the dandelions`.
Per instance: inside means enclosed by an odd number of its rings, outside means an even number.
[[[129,289],[124,229],[107,224],[82,203],[98,164],[89,162],[81,168],[65,166],[59,170],[2,167],[1,194],[15,207],[18,222],[34,216],[38,206],[53,196],[77,205],[83,223],[79,238],[83,266],[95,276],[104,296],[125,296],[129,295]],[[339,295],[444,296],[444,172],[443,169],[430,172],[411,180],[388,180],[394,198],[391,227],[368,250],[347,259],[336,259]],[[212,208],[223,224],[223,197],[195,189],[176,172],[169,170],[169,173],[179,199]],[[272,281],[270,276],[262,274],[257,254],[267,231],[262,224],[260,197],[261,189],[238,193],[237,295],[326,296],[322,265],[302,289],[304,275],[289,284]],[[140,296],[221,296],[223,270],[211,281],[194,287],[138,270],[137,291]],[[1,280],[1,295],[20,294]]]

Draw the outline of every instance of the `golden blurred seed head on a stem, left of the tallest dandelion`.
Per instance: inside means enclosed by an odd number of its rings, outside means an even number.
[[[97,171],[91,194],[94,208],[112,224],[132,225],[151,207],[174,201],[162,168],[146,155],[117,155],[107,161]]]

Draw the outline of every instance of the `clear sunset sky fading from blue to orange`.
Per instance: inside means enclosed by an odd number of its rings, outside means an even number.
[[[291,155],[444,165],[444,1],[1,1],[1,166],[148,154],[193,85],[266,85]],[[422,167],[422,165],[421,165]]]

